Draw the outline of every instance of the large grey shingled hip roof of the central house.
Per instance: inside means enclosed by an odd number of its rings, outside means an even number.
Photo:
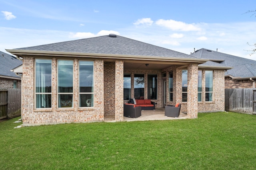
[[[196,57],[184,53],[113,34],[73,41],[64,41],[60,43],[38,45],[34,47],[18,48],[17,50],[196,59]]]

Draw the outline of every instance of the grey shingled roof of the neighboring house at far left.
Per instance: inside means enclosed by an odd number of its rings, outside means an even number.
[[[0,51],[0,77],[21,79],[20,76],[11,71],[21,64],[22,61],[18,60],[15,56]]]

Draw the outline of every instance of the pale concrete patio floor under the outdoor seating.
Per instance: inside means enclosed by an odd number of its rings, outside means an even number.
[[[141,116],[137,118],[124,117],[124,121],[174,120],[174,119],[189,119],[189,117],[184,113],[180,113],[179,117],[164,116],[164,108],[156,108],[155,110],[142,110]],[[104,122],[116,122],[115,115],[104,115]]]

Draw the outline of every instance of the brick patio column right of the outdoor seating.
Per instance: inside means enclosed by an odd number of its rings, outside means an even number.
[[[197,118],[198,113],[198,64],[188,65],[188,117]]]

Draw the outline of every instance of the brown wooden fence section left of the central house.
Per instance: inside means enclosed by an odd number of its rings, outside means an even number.
[[[21,114],[21,89],[0,89],[0,119]]]

